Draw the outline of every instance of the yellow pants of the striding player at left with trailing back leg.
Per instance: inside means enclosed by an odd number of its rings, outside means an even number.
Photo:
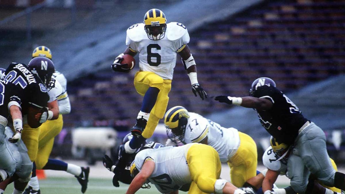
[[[54,138],[61,132],[62,126],[62,115],[59,115],[56,120],[47,120],[40,126],[37,157],[34,160],[37,169],[42,169],[47,164],[54,145]]]

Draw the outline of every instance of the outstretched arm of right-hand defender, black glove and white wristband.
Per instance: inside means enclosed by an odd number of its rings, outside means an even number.
[[[272,101],[266,98],[255,98],[255,97],[230,97],[230,96],[216,96],[215,100],[226,103],[243,106],[246,108],[255,108],[257,110],[269,110],[272,108]]]

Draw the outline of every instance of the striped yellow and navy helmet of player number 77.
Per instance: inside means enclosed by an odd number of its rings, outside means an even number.
[[[175,106],[170,108],[164,115],[164,124],[168,138],[177,144],[183,143],[188,119],[188,110],[185,107]]]

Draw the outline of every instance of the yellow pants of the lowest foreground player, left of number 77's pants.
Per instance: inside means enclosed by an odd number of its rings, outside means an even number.
[[[221,171],[217,151],[209,145],[194,144],[187,151],[187,163],[192,179],[188,193],[214,193],[214,185]]]

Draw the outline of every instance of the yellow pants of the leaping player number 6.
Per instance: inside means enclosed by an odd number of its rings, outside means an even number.
[[[168,107],[168,94],[171,89],[171,80],[163,79],[154,72],[138,71],[134,76],[134,87],[141,96],[145,95],[149,87],[159,89],[155,106],[150,112],[150,117],[147,121],[145,130],[142,132],[143,137],[150,138],[155,132],[159,119],[164,117],[165,111]]]

